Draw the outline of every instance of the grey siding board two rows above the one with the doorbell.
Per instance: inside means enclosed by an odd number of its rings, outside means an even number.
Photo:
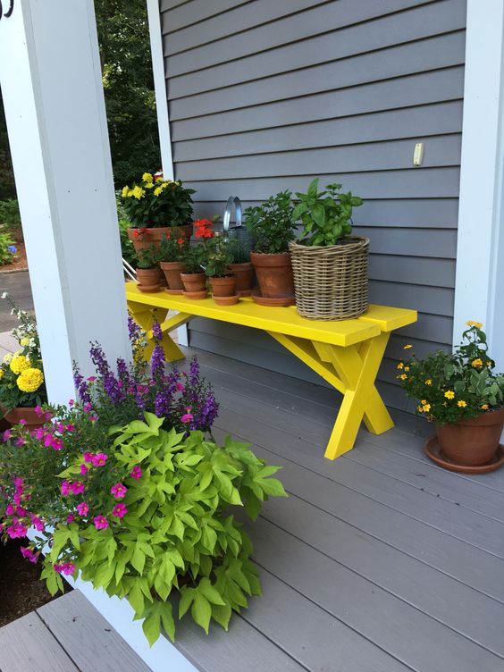
[[[191,119],[172,119],[172,141],[211,138],[247,130],[280,129],[307,121],[460,100],[463,90],[464,68],[458,66],[267,105]]]

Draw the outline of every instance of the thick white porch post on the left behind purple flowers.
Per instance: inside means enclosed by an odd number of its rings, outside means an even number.
[[[90,340],[130,358],[92,0],[13,0],[0,84],[47,391],[66,403]]]

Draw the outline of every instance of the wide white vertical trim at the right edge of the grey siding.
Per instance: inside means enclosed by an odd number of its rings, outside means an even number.
[[[468,0],[453,341],[483,322],[504,369],[502,0]]]

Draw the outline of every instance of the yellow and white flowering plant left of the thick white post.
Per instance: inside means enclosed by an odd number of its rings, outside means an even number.
[[[17,407],[45,404],[47,393],[37,324],[8,294],[4,293],[2,298],[9,302],[12,314],[19,320],[13,336],[20,344],[17,352],[5,355],[0,363],[0,412],[6,413]]]

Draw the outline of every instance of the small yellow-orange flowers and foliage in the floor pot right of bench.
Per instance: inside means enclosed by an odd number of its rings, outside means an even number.
[[[504,406],[504,375],[494,372],[483,324],[470,320],[466,325],[453,353],[438,350],[418,359],[411,350],[397,365],[400,384],[418,401],[417,414],[435,424],[453,424]]]

